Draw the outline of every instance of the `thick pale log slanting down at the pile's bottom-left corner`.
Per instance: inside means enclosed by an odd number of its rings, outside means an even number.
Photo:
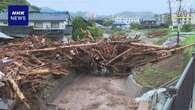
[[[18,84],[12,78],[8,78],[7,81],[11,85],[13,91],[15,92],[15,94],[17,95],[17,97],[20,99],[20,101],[22,103],[24,103],[24,105],[28,109],[30,109],[30,105],[26,102],[26,97],[24,96],[24,94],[22,93],[22,91],[20,90],[20,88],[18,87]]]

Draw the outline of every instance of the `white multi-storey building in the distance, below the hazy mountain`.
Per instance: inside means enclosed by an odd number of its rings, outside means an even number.
[[[118,28],[130,28],[133,23],[140,24],[139,17],[116,16],[113,21],[113,26]]]

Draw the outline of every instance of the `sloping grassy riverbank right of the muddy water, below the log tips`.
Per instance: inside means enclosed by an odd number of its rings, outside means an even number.
[[[170,64],[167,64],[168,62]],[[157,88],[182,73],[182,63],[178,62],[174,67],[173,63],[177,63],[177,56],[157,64],[148,64],[143,67],[143,71],[135,75],[135,80],[145,88]]]

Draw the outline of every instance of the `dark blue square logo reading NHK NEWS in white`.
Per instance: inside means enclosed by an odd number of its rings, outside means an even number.
[[[28,26],[29,8],[26,5],[8,6],[8,25],[9,26]]]

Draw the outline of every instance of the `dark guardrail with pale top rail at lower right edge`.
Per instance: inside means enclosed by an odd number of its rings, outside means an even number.
[[[190,110],[193,103],[195,83],[195,53],[190,59],[183,74],[173,88],[169,88],[169,98],[162,110]]]

